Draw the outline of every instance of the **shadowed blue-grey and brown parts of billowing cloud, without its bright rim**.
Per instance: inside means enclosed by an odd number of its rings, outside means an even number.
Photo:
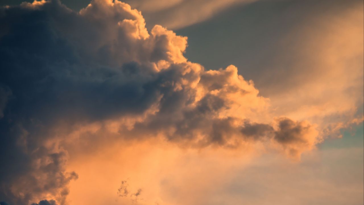
[[[216,113],[229,107],[223,97],[206,94],[193,106],[197,90],[176,89],[181,79],[200,81],[207,90],[242,95],[244,90],[226,86],[229,78],[224,75],[186,72],[189,62],[171,61],[167,34],[132,38],[128,27],[117,25],[136,17],[120,9],[105,13],[100,2],[83,15],[56,0],[36,8],[0,9],[0,201],[28,205],[52,194],[65,204],[67,184],[78,176],[66,172],[66,147],[44,146],[56,136],[54,128],[139,116],[156,103],[157,113],[120,131],[119,137],[151,136],[172,127],[169,140],[195,140],[198,132],[203,136],[198,146],[225,146],[233,135],[274,139],[283,146],[305,140],[301,135],[308,128],[289,119],[278,120],[274,130],[249,119],[237,127],[234,117],[217,118]],[[170,65],[153,69],[161,60]]]

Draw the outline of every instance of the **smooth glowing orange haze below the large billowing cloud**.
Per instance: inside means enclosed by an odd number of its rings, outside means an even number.
[[[69,169],[77,170],[80,178],[71,182],[69,198],[72,204],[131,204],[129,197],[116,194],[128,177],[130,193],[143,190],[138,205],[361,204],[360,138],[356,147],[310,151],[299,163],[258,144],[254,150],[198,150],[157,139],[113,142],[98,151],[102,154],[71,159]]]

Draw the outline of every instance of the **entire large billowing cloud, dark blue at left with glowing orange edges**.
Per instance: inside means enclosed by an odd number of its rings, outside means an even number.
[[[187,61],[186,37],[148,32],[118,0],[79,12],[58,0],[3,7],[0,24],[0,200],[9,204],[66,204],[78,177],[64,167],[75,133],[90,147],[99,138],[263,143],[294,159],[323,138],[318,125],[272,114],[237,67]]]

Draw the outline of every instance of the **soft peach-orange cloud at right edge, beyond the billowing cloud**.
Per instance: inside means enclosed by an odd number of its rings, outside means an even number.
[[[358,111],[364,100],[362,5],[353,1],[345,9],[308,16],[284,36],[289,40],[282,46],[290,46],[291,55],[278,53],[277,61],[294,59],[284,74],[287,81],[264,91],[278,113],[309,120],[325,130],[323,135],[333,136],[339,135],[338,127],[363,121],[363,111]],[[316,10],[323,7],[319,4]],[[296,39],[300,42],[294,43]],[[277,74],[267,75],[274,79]]]

